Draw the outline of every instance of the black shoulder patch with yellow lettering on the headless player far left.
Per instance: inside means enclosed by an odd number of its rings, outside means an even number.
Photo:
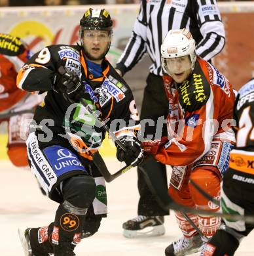
[[[6,33],[0,33],[0,54],[17,56],[26,50],[20,37],[14,37]]]

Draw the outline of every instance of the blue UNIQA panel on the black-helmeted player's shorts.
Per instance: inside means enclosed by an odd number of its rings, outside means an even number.
[[[63,148],[62,146],[50,146],[43,151],[57,177],[73,170],[86,172],[79,158],[67,148]]]

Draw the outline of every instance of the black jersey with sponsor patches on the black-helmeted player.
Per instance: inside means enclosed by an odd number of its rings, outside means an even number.
[[[82,104],[71,104],[60,93],[60,66],[79,75],[84,91],[90,95],[86,102],[118,137],[121,131],[124,135],[136,136],[139,116],[134,96],[108,60],[102,61],[102,76],[94,78],[87,68],[81,46],[52,45],[32,56],[17,78],[20,89],[47,92],[45,102],[37,107],[30,129],[44,133],[41,146],[57,143],[68,147],[71,142],[76,148],[88,148],[87,152],[98,148],[103,139],[103,130],[96,127],[94,118]]]

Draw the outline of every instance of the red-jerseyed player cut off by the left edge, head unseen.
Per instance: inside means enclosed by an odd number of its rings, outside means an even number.
[[[30,56],[29,49],[19,37],[0,33],[0,123],[8,121],[7,154],[17,167],[28,167],[26,135],[33,108],[41,103],[41,96],[32,95],[16,87],[16,76]],[[18,112],[31,110],[31,113]],[[17,112],[10,115],[10,112]]]

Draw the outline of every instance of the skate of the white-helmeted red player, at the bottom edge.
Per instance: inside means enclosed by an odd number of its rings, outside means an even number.
[[[192,238],[185,238],[184,236],[179,240],[168,245],[165,249],[166,256],[184,256],[201,251],[202,240],[199,234]]]

